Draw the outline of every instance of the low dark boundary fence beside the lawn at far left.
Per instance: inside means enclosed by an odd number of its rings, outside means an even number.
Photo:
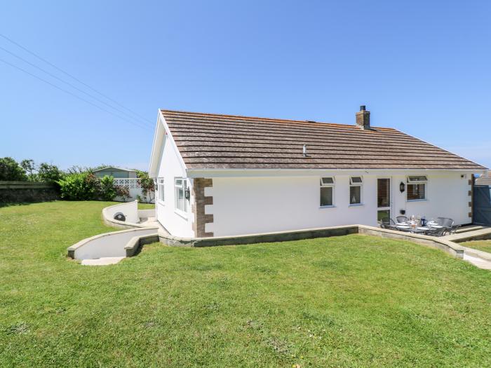
[[[43,182],[0,182],[0,203],[45,202],[60,199],[53,184]]]

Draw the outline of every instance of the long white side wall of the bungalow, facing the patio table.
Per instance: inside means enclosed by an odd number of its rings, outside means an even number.
[[[213,214],[213,224],[206,224],[206,231],[215,236],[307,229],[323,226],[365,224],[377,226],[377,178],[391,177],[391,217],[400,210],[406,215],[451,217],[456,224],[471,222],[468,191],[469,175],[440,172],[426,175],[427,200],[407,202],[406,192],[399,191],[405,175],[363,175],[363,205],[349,205],[349,175],[325,172],[320,176],[335,177],[334,205],[319,205],[319,178],[309,177],[215,177],[213,188],[206,188],[206,195],[213,196],[213,205],[206,206],[206,213]],[[407,186],[407,184],[406,184]]]

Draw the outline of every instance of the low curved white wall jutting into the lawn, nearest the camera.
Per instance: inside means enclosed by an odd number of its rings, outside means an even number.
[[[126,257],[126,247],[133,247],[135,251],[135,239],[143,236],[154,236],[158,240],[157,227],[144,229],[130,229],[103,233],[83,239],[68,248],[68,257],[73,259],[97,259],[102,257]],[[130,243],[132,241],[132,243]],[[128,244],[129,243],[129,244]],[[152,243],[152,242],[150,242]],[[133,255],[132,254],[132,255]]]

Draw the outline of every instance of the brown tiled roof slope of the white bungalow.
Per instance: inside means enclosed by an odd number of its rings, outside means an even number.
[[[483,166],[392,128],[161,110],[190,169],[471,169]],[[302,146],[307,145],[307,155]]]

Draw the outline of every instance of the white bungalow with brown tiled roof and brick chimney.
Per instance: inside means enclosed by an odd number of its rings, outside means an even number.
[[[182,237],[377,226],[399,214],[472,222],[487,169],[393,128],[160,110],[156,216]]]

